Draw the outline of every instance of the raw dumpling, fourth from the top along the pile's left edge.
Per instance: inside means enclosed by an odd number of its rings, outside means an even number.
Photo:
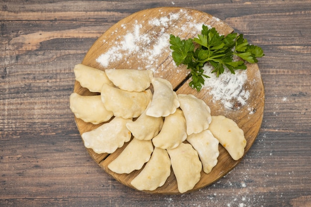
[[[149,161],[154,150],[151,140],[133,138],[125,149],[108,165],[115,173],[131,173],[139,170]]]

